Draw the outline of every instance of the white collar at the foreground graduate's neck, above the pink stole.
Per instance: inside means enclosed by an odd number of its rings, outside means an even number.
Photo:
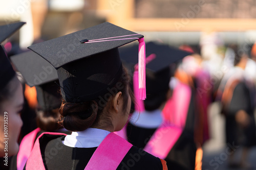
[[[94,148],[98,147],[102,140],[110,134],[109,131],[88,128],[81,132],[72,132],[62,141],[63,144],[73,148]]]

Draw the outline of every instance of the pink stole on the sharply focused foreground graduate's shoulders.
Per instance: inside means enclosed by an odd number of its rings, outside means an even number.
[[[51,132],[42,133],[36,139],[33,151],[27,161],[26,169],[45,170],[39,144],[39,138],[44,134],[66,135]],[[110,133],[100,143],[84,169],[116,169],[132,146],[133,145],[131,143],[127,142],[115,133]]]

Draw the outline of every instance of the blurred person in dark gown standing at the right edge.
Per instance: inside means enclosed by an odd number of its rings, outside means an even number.
[[[255,86],[247,79],[245,67],[247,56],[239,55],[238,48],[233,46],[234,67],[223,77],[225,82],[221,96],[222,113],[226,117],[226,142],[242,148],[240,161],[234,161],[234,154],[228,157],[230,167],[250,167],[247,156],[249,148],[256,144],[256,129],[253,116]],[[223,84],[223,83],[221,83]],[[221,91],[221,90],[219,90]]]

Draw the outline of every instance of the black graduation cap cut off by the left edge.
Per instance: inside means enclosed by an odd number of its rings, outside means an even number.
[[[25,22],[16,22],[9,25],[0,26],[0,43],[10,37],[15,31],[24,25]],[[4,47],[0,45],[0,90],[15,76],[15,71],[7,58]]]

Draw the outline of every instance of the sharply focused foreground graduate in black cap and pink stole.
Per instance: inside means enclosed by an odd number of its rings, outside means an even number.
[[[135,40],[144,50],[143,35],[104,22],[29,47],[57,69],[60,123],[72,134],[42,133],[26,169],[167,169],[164,160],[113,133],[126,124],[131,108],[118,47]]]

